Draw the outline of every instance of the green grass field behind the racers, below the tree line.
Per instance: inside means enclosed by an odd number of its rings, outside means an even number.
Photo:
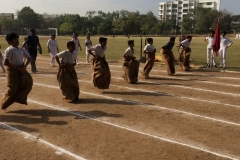
[[[47,52],[47,40],[50,37],[42,37],[40,36],[40,43],[42,45],[43,49],[43,55],[48,56]],[[79,52],[79,57],[83,58],[85,57],[85,46],[84,46],[84,41],[86,37],[79,37],[80,43],[82,46],[82,52]],[[93,45],[98,43],[98,38],[97,36],[91,37],[91,40],[93,42]],[[203,41],[205,37],[193,37],[192,43],[191,43],[191,48],[192,48],[192,54],[191,54],[191,59],[194,60],[192,64],[194,65],[206,65],[206,43]],[[227,68],[229,70],[240,70],[240,40],[235,40],[234,37],[229,37],[234,44],[228,49],[227,52]],[[58,45],[59,45],[59,50],[65,50],[66,49],[66,43],[71,40],[72,37],[70,36],[59,36],[57,37]],[[135,41],[135,56],[139,59],[140,57],[140,37],[131,37],[130,39]],[[167,37],[154,37],[154,46],[157,49],[157,54],[159,55],[160,48],[162,45],[168,42]],[[144,47],[144,40],[143,38],[143,47]],[[107,60],[113,60],[113,61],[121,61],[122,56],[126,48],[128,47],[127,45],[128,38],[127,37],[108,37],[108,43],[107,43],[107,51],[106,51],[106,59]],[[20,37],[20,45],[23,43],[23,37]],[[178,38],[176,39],[175,46],[179,44]],[[4,51],[7,47],[8,44],[5,41],[4,36],[0,36],[0,45],[2,46],[2,51]],[[177,58],[178,57],[178,52],[177,52],[177,47],[174,47],[173,49],[174,55]],[[219,64],[219,56],[217,57],[217,64]]]

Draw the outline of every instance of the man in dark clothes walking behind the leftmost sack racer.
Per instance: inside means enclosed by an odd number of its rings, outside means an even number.
[[[27,37],[27,40],[25,43],[22,45],[22,48],[27,45],[28,53],[31,56],[31,70],[32,73],[37,72],[36,68],[36,59],[37,59],[37,51],[39,47],[39,53],[42,54],[42,47],[39,43],[39,38],[36,36],[36,29],[31,29],[30,30],[30,35]]]

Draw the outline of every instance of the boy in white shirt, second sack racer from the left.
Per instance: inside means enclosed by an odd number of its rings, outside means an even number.
[[[67,47],[68,50],[57,53],[55,56],[59,65],[57,80],[64,96],[63,99],[69,103],[73,103],[79,99],[79,84],[77,73],[74,68],[76,61],[73,59],[75,43],[69,41]],[[61,58],[61,62],[59,58]]]

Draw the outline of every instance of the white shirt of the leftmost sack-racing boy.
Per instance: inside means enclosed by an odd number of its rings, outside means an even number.
[[[4,58],[15,66],[21,66],[23,64],[23,57],[31,58],[26,50],[18,47],[9,46],[5,50]]]

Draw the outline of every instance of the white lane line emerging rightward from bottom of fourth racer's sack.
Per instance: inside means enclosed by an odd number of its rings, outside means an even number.
[[[113,78],[113,79],[122,79],[120,77],[111,77],[111,78]],[[175,88],[183,88],[183,89],[190,89],[190,90],[196,90],[196,91],[211,92],[211,93],[230,95],[230,96],[235,96],[235,97],[239,97],[240,96],[240,94],[215,91],[215,90],[211,90],[211,89],[202,89],[202,88],[197,88],[197,87],[187,87],[187,86],[174,85],[174,84],[164,84],[164,83],[152,82],[152,81],[138,81],[138,82],[144,82],[144,83],[148,83],[148,84],[159,84],[159,85],[162,85],[162,86],[170,86],[170,87],[175,87]]]

